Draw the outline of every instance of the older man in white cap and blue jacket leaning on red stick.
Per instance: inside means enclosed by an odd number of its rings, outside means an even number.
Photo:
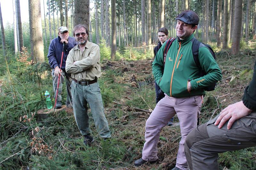
[[[65,44],[63,47],[63,43]],[[55,39],[52,39],[49,50],[48,50],[48,59],[49,64],[52,67],[52,87],[54,92],[54,98],[56,98],[57,95],[57,102],[55,108],[59,109],[61,108],[61,91],[62,91],[62,84],[64,81],[64,77],[66,77],[66,85],[67,85],[67,100],[66,105],[67,107],[72,108],[72,102],[71,102],[71,92],[70,92],[70,84],[72,82],[72,78],[70,74],[66,73],[65,66],[66,66],[66,60],[69,51],[77,45],[76,39],[73,37],[69,37],[68,28],[65,26],[61,26],[58,29],[58,37]],[[62,54],[62,48],[64,48],[64,55],[62,59],[62,65],[60,68],[61,63],[61,54]],[[58,84],[58,78],[60,76],[60,83],[59,83],[59,89],[58,94],[56,94],[57,91],[57,84]]]

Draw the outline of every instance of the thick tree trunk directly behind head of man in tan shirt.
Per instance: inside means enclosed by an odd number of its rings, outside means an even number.
[[[75,7],[74,25],[84,24],[86,28],[89,29],[90,1],[76,0],[74,1],[74,7]]]

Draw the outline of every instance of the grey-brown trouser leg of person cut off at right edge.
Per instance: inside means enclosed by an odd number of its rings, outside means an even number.
[[[217,116],[218,117],[218,116]],[[217,117],[191,131],[185,141],[189,170],[218,170],[218,153],[256,146],[256,111],[219,129]]]

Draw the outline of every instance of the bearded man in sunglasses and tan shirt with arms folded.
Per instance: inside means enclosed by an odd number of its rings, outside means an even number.
[[[66,71],[73,78],[71,93],[76,124],[84,136],[84,144],[90,145],[94,139],[90,135],[87,103],[91,108],[95,127],[100,137],[104,140],[111,137],[97,81],[101,75],[100,47],[87,40],[88,30],[84,25],[76,25],[73,34],[78,45],[68,54]]]

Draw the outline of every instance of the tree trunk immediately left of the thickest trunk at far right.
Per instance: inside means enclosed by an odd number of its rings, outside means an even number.
[[[224,0],[224,21],[223,21],[223,44],[222,49],[228,48],[228,17],[229,17],[229,0]]]

